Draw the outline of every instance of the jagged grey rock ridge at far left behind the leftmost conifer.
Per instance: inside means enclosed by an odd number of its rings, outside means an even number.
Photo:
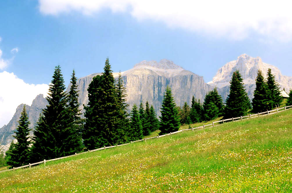
[[[16,108],[16,112],[14,113],[12,119],[9,121],[7,125],[4,125],[0,129],[0,144],[6,145],[12,142],[14,139],[12,135],[18,126],[18,121],[20,118],[20,113],[22,112],[23,106],[25,104],[21,104]],[[47,100],[44,98],[43,94],[39,94],[36,98],[32,101],[32,106],[25,105],[28,120],[30,122],[29,128],[34,128],[35,123],[39,118],[39,114],[41,110],[44,109],[47,105]],[[8,146],[9,147],[9,146]]]

